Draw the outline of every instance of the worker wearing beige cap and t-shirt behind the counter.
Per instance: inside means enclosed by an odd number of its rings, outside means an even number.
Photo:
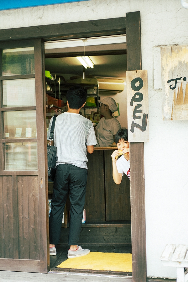
[[[98,102],[101,104],[99,112],[104,117],[95,128],[97,130],[97,146],[104,147],[114,142],[115,135],[121,128],[121,125],[113,116],[113,113],[118,110],[116,101],[111,97],[107,97]]]

